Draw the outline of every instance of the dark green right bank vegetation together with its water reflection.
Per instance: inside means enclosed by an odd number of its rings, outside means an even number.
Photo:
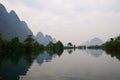
[[[110,38],[109,41],[105,42],[101,46],[89,46],[88,49],[103,49],[111,57],[116,57],[120,60],[120,36]]]

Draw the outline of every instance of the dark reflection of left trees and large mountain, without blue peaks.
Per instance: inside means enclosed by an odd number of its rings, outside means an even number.
[[[33,59],[39,52],[23,53],[22,51],[4,51],[0,53],[0,76],[3,80],[18,80],[25,75]]]

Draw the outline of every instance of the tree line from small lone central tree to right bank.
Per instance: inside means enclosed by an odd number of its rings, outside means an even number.
[[[85,46],[80,45],[76,47],[71,42],[69,42],[64,49],[103,49],[105,51],[119,51],[120,52],[120,35],[115,38],[110,38],[107,42],[103,43],[102,45],[91,45]]]

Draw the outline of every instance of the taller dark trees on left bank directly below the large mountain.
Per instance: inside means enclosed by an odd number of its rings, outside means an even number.
[[[3,39],[0,34],[0,52],[31,52],[42,50],[43,48],[43,45],[40,45],[34,39],[32,39],[31,35],[29,35],[24,42],[20,42],[18,37],[14,37],[10,41],[7,41]]]

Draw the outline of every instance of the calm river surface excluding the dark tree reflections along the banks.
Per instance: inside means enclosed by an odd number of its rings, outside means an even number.
[[[119,59],[102,50],[44,51],[29,58],[2,61],[0,75],[4,80],[120,80]]]

